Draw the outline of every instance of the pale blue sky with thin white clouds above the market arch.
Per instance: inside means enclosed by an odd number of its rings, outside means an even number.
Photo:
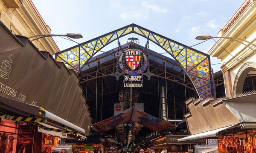
[[[81,33],[82,43],[131,23],[147,28],[184,45],[195,45],[198,34],[217,36],[218,31],[230,20],[243,0],[32,0],[52,34]],[[140,45],[146,39],[137,34],[122,37],[125,44],[129,37],[137,37]],[[54,37],[62,51],[75,42]],[[193,48],[207,53],[215,44],[208,40]],[[117,42],[102,49],[117,47]],[[150,42],[149,48],[158,53],[163,49]],[[163,54],[170,57],[169,54]],[[221,61],[211,57],[213,71],[220,71]]]

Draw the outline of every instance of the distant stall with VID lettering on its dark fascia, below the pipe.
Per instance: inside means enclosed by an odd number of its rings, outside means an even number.
[[[152,141],[152,146],[150,149],[153,149],[157,152],[162,150],[167,150],[169,153],[178,153],[178,152],[189,152],[194,145],[199,144],[199,140],[188,140],[184,142],[178,142],[178,139],[184,138],[183,135],[171,135],[171,136],[161,136]],[[149,149],[149,150],[150,150]]]

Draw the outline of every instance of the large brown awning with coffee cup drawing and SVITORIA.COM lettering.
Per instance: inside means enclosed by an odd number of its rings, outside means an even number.
[[[79,77],[2,22],[0,46],[0,106],[39,117],[38,110],[44,108],[49,120],[88,136],[92,118]]]

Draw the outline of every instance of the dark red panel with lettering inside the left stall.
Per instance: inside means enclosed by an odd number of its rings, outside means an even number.
[[[18,139],[16,153],[32,153],[34,141],[34,127],[20,125],[18,127]]]

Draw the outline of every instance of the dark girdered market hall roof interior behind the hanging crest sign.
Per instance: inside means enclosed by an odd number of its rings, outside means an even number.
[[[143,48],[140,45],[138,47]],[[128,45],[122,45],[122,48],[128,48]],[[84,89],[84,96],[87,99],[93,123],[112,117],[113,103],[119,103],[119,93],[129,89],[123,87],[122,77],[117,81],[116,77],[111,76],[116,72],[117,52],[120,51],[114,48],[93,57],[79,73],[80,85]],[[154,75],[150,80],[144,76],[143,88],[132,88],[133,92],[139,93],[137,103],[144,103],[146,113],[160,118],[160,86],[166,86],[167,83],[169,116],[174,118],[176,113],[176,118],[182,119],[186,114],[184,103],[186,98],[198,96],[195,87],[174,59],[157,54],[152,50],[149,50],[148,59],[149,69]]]

